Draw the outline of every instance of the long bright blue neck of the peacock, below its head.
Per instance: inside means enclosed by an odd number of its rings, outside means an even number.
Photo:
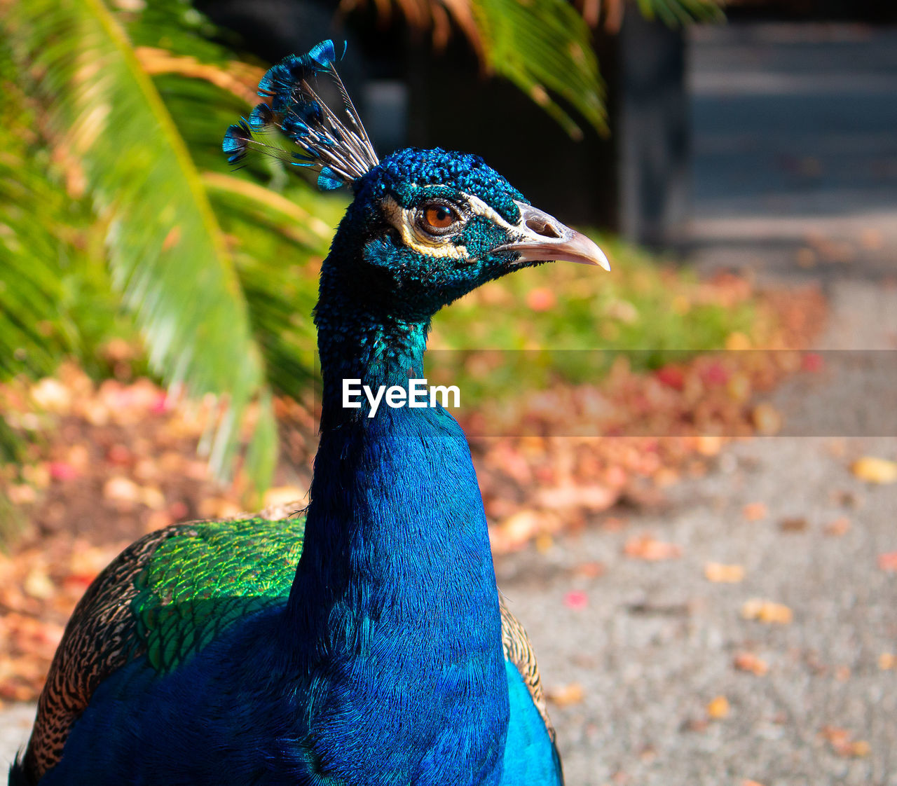
[[[318,680],[318,755],[359,782],[497,783],[508,688],[464,433],[441,408],[368,418],[340,395],[344,376],[372,388],[422,376],[429,324],[324,293],[322,283],[321,440],[288,606],[301,668]]]

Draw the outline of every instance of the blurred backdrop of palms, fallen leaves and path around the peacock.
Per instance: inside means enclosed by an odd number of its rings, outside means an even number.
[[[0,764],[120,548],[304,505],[347,196],[221,140],[333,37],[381,155],[479,153],[614,265],[493,282],[431,339],[567,782],[897,784],[895,24],[0,0]]]

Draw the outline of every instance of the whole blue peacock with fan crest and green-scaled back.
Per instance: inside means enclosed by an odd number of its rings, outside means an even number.
[[[354,197],[314,311],[309,505],[126,548],[65,629],[14,786],[562,782],[462,429],[438,402],[346,406],[344,380],[423,378],[431,317],[486,281],[552,260],[610,268],[475,155],[379,160],[338,59],[328,40],[274,65],[223,143],[235,164],[286,157]]]

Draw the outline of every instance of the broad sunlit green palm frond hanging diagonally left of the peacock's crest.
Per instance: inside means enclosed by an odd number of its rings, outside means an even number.
[[[100,0],[20,0],[12,19],[58,139],[83,161],[108,222],[114,280],[152,368],[192,396],[226,402],[212,448],[221,472],[242,414],[267,395],[266,380],[239,276],[187,145]],[[271,424],[256,432],[273,433]]]

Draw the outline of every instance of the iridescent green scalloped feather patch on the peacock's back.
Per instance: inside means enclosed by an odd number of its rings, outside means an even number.
[[[305,520],[196,522],[163,540],[135,577],[136,633],[153,669],[176,669],[241,618],[283,603]]]

